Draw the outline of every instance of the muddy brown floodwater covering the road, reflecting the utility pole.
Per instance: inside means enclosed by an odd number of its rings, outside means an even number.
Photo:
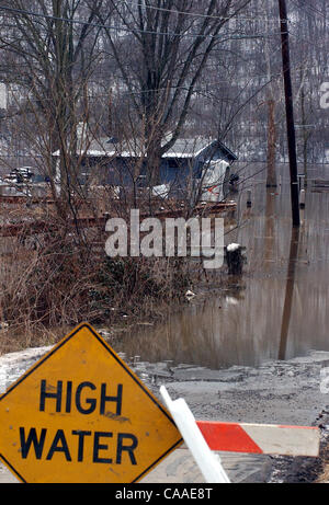
[[[277,190],[266,190],[258,174],[236,196],[239,227],[226,244],[247,248],[243,275],[228,276],[228,286],[215,295],[195,286],[192,302],[168,311],[166,322],[132,329],[116,351],[149,363],[212,369],[329,351],[329,191],[314,192],[309,181],[302,226],[294,230],[288,167],[280,173]],[[326,175],[329,180],[329,167],[309,171],[309,179]]]

